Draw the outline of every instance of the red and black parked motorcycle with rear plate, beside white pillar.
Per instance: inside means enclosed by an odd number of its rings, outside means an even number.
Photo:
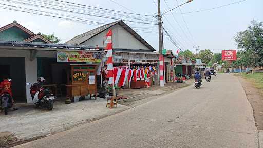
[[[43,77],[38,78],[37,83],[31,85],[30,94],[34,104],[43,108],[47,108],[48,110],[52,110],[55,96],[51,94],[49,89],[44,89],[44,82],[45,79]],[[30,83],[27,83],[27,85],[30,85]]]

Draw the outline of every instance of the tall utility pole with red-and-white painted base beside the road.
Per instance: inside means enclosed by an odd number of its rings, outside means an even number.
[[[160,86],[164,86],[164,68],[163,68],[163,55],[162,55],[162,19],[161,19],[161,6],[158,0],[158,28],[159,28],[159,70],[160,70]]]

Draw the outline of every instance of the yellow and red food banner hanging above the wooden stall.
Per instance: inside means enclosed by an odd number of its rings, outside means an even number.
[[[57,62],[100,63],[100,52],[57,51]]]

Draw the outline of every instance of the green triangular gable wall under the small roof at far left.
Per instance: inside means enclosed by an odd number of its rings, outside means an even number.
[[[30,35],[15,26],[0,32],[0,40],[4,41],[24,41],[27,38],[30,38]]]

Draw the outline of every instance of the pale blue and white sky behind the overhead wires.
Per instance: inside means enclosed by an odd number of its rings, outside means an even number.
[[[17,0],[16,0],[17,1]],[[26,2],[28,0],[24,0]],[[50,0],[43,0],[41,2],[48,2]],[[53,1],[53,0],[52,0]],[[65,0],[68,2],[95,6],[100,8],[153,15],[157,14],[157,0],[143,0],[143,1],[127,1],[127,0]],[[161,13],[164,13],[171,8],[184,3],[186,0],[160,0]],[[168,31],[173,40],[176,41],[182,50],[191,50],[195,52],[194,47],[200,50],[210,49],[212,52],[221,52],[221,50],[237,49],[235,45],[234,36],[239,31],[247,29],[247,26],[252,20],[263,22],[263,1],[262,0],[245,0],[237,4],[229,5],[222,8],[217,8],[209,11],[187,13],[210,9],[240,0],[194,0],[191,3],[186,3],[183,6],[167,12],[163,15],[162,21],[164,28]],[[30,1],[29,1],[30,2]],[[178,3],[177,3],[178,2]],[[6,2],[0,0],[0,6],[3,4],[26,7],[30,9],[37,9],[40,11],[47,10],[44,8],[36,8],[34,6],[25,6],[22,4]],[[119,4],[119,5],[118,5]],[[167,4],[167,5],[166,5]],[[168,8],[168,7],[170,8]],[[181,10],[181,11],[180,11]],[[53,13],[59,13],[56,10],[49,10]],[[181,14],[186,13],[186,14]],[[79,23],[76,21],[64,20],[61,18],[54,18],[49,16],[41,16],[36,14],[29,14],[24,12],[17,12],[0,8],[1,21],[0,26],[5,26],[16,20],[18,23],[28,28],[34,33],[54,33],[64,43],[76,35],[82,34],[91,29],[97,28],[101,25],[89,25]],[[93,16],[83,16],[79,14],[72,14],[63,12],[65,15],[73,15],[76,17],[85,17],[85,19],[111,23],[116,20],[106,19]],[[110,15],[110,14],[109,14]],[[121,18],[120,16],[118,18]],[[149,16],[137,16],[137,18],[145,20],[149,19],[157,23],[156,18]],[[141,20],[137,20],[140,22]],[[141,24],[135,22],[127,22],[130,27],[144,38],[157,51],[158,45],[158,26],[150,24]],[[139,29],[138,29],[139,28]],[[164,49],[173,50],[178,49],[164,36]]]

